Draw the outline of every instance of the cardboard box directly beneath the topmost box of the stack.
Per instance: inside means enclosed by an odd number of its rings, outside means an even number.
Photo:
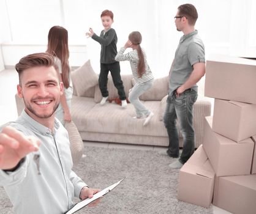
[[[256,105],[215,99],[213,131],[236,142],[256,135]]]

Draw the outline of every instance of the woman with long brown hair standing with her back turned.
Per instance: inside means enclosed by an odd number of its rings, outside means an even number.
[[[53,26],[48,33],[47,53],[55,56],[55,64],[58,65],[59,81],[64,84],[64,93],[61,95],[61,101],[56,109],[57,117],[62,125],[71,121],[70,107],[73,94],[72,81],[70,79],[69,67],[69,46],[67,30],[61,26]]]

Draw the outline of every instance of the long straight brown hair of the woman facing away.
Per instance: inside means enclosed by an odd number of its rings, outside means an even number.
[[[62,81],[66,89],[69,87],[69,45],[67,30],[61,26],[53,26],[48,33],[47,53],[61,60]]]

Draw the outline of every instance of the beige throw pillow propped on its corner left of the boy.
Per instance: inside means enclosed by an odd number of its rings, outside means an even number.
[[[79,97],[83,97],[86,90],[96,86],[98,83],[98,76],[92,69],[91,62],[89,60],[81,67],[71,72],[71,79]]]

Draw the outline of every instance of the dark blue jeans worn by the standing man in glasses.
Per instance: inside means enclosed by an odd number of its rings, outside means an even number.
[[[164,114],[164,124],[167,128],[169,146],[167,153],[171,157],[179,157],[179,136],[176,127],[178,119],[181,135],[183,136],[183,152],[179,161],[186,163],[195,150],[195,131],[193,128],[193,105],[197,100],[197,92],[187,89],[179,97],[175,93],[167,98]]]

